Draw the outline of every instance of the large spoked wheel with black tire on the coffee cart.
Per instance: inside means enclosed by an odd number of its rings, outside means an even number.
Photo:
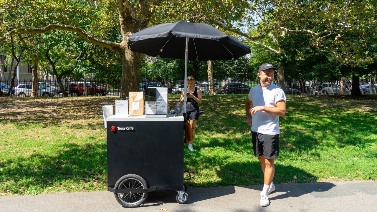
[[[128,174],[121,177],[115,183],[115,189],[146,189],[146,181],[135,174]],[[132,194],[115,194],[115,199],[124,207],[138,207],[147,199],[148,193],[132,193]]]

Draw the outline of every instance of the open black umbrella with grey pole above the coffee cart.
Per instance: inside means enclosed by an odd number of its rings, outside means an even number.
[[[163,23],[130,35],[132,51],[156,57],[185,59],[185,88],[187,90],[187,60],[230,60],[250,53],[250,47],[204,23]],[[184,100],[184,118],[186,115]]]

